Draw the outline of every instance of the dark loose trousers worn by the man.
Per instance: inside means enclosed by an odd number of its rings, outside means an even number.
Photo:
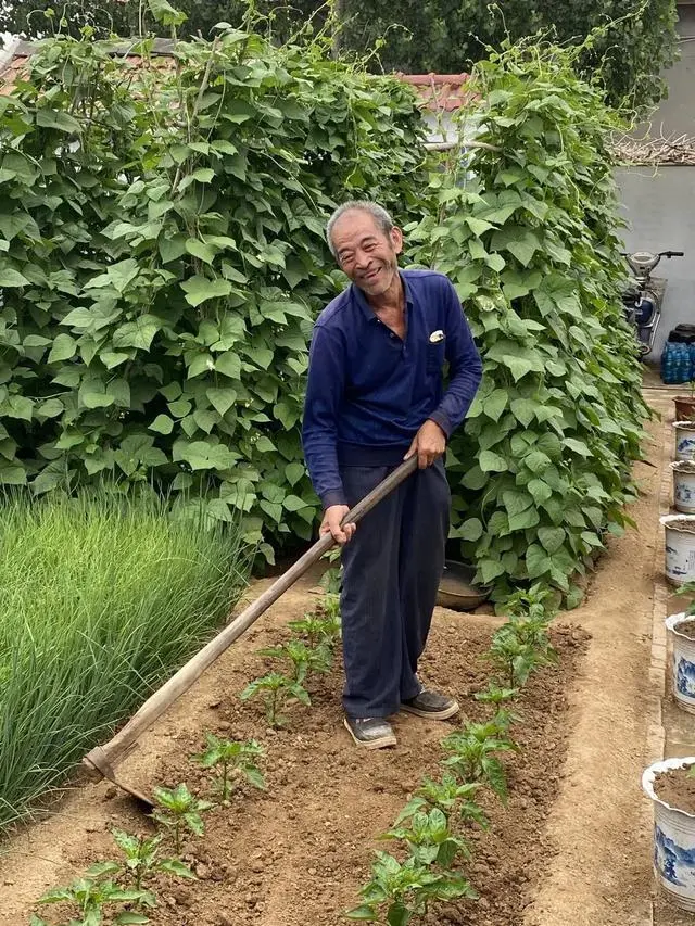
[[[352,507],[395,467],[342,467]],[[444,568],[451,495],[443,460],[417,470],[357,525],[342,551],[345,713],[389,716],[416,676]]]

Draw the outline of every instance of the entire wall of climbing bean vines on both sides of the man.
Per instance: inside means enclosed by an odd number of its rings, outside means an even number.
[[[309,537],[307,342],[342,286],[323,228],[370,196],[409,221],[409,259],[456,283],[484,356],[450,448],[453,538],[496,598],[541,580],[577,601],[570,576],[627,521],[645,414],[617,123],[579,52],[482,63],[466,116],[486,147],[429,174],[409,90],[323,41],[227,30],[164,74],[147,50],[132,74],[50,41],[2,103],[0,482],[150,480],[214,519],[242,511],[249,541]]]

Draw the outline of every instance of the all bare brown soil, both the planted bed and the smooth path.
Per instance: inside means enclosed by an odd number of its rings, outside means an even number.
[[[649,632],[666,466],[662,424],[652,428],[655,467],[637,465],[644,495],[639,530],[612,541],[586,602],[553,632],[559,665],[538,675],[519,703],[522,751],[506,759],[506,809],[486,801],[491,834],[473,833],[470,876],[478,902],[429,915],[464,926],[642,926],[650,911],[649,808],[640,791],[650,722]],[[256,650],[287,635],[287,621],[316,604],[298,584],[177,702],[118,775],[141,790],[185,779],[204,790],[188,762],[203,733],[251,737],[267,748],[267,790],[243,789],[208,815],[207,836],[189,843],[200,881],[162,885],[155,926],[329,926],[358,902],[370,853],[422,775],[435,774],[439,740],[452,728],[409,715],[399,745],[358,752],[341,726],[340,673],[311,685],[313,708],[292,707],[287,731],[270,731],[260,705],[239,693],[268,665]],[[257,583],[250,595],[267,582]],[[438,609],[422,660],[425,681],[456,695],[468,716],[485,715],[472,695],[489,668],[479,659],[497,619]],[[52,813],[23,828],[0,857],[0,924],[28,923],[33,902],[98,859],[113,858],[111,827],[150,823],[108,783],[80,783]],[[48,911],[47,911],[48,912]],[[59,912],[59,911],[56,911]]]

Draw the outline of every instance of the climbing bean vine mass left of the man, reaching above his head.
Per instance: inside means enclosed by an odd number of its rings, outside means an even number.
[[[299,418],[344,196],[421,214],[408,88],[229,30],[134,72],[49,40],[0,106],[0,483],[208,493],[309,537]],[[271,550],[265,546],[269,557]]]

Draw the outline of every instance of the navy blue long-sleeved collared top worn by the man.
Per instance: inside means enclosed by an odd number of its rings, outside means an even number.
[[[430,270],[402,270],[401,279],[405,340],[354,283],[314,326],[303,444],[325,508],[346,504],[340,467],[400,464],[428,418],[448,437],[480,384],[480,355],[450,280]]]

